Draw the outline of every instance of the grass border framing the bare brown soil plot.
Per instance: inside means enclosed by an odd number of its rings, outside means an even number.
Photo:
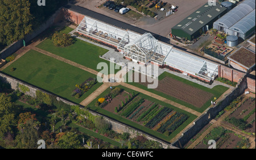
[[[127,74],[125,75],[127,76]],[[207,92],[210,92],[213,94],[212,98],[210,98],[201,108],[198,108],[198,107],[195,107],[193,106],[192,104],[189,104],[187,102],[184,102],[180,99],[177,99],[177,98],[174,98],[173,96],[170,96],[170,95],[167,95],[167,94],[164,94],[163,92],[160,92],[160,91],[156,91],[154,89],[148,89],[147,86],[144,86],[144,85],[141,85],[140,83],[135,83],[135,82],[129,82],[130,85],[133,85],[133,86],[136,86],[136,87],[139,87],[143,90],[146,90],[146,91],[150,91],[154,94],[157,94],[159,96],[162,96],[164,98],[167,98],[169,100],[172,100],[176,103],[179,103],[185,107],[188,107],[188,108],[191,108],[192,110],[195,110],[197,112],[200,112],[200,113],[203,113],[209,106],[210,106],[210,101],[211,100],[214,100],[214,97],[218,98],[220,97],[222,94],[224,94],[224,92],[226,90],[228,90],[229,88],[228,87],[225,87],[225,86],[221,86],[221,85],[218,85],[218,86],[214,86],[212,89],[209,89],[208,87],[205,87],[205,86],[202,86],[202,85],[199,85],[195,82],[192,82],[192,81],[189,81],[187,79],[184,79],[184,78],[181,78],[181,77],[178,77],[174,74],[171,74],[171,73],[168,73],[168,72],[164,72],[162,73],[159,77],[158,77],[158,80],[160,81],[161,79],[163,79],[164,77],[171,77],[171,78],[174,78],[180,82],[183,82],[187,85],[190,85],[190,86],[193,86],[193,87],[196,87],[197,89],[201,89],[201,90],[204,90],[204,91],[207,91]]]

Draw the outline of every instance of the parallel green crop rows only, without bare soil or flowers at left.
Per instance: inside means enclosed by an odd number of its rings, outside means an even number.
[[[122,108],[119,115],[135,120],[145,127],[163,133],[166,136],[169,136],[188,119],[188,116],[184,113],[160,106],[157,103],[144,106],[144,102],[143,98],[134,98]]]

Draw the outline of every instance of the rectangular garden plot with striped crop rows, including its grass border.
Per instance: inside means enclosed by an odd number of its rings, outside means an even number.
[[[116,88],[121,91],[113,96]],[[98,104],[101,98],[104,102]],[[105,90],[88,107],[166,141],[196,118],[191,113],[123,86]]]

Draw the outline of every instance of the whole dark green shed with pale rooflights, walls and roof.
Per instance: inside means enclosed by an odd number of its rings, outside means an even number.
[[[189,41],[200,36],[204,31],[212,28],[213,22],[226,13],[226,7],[216,3],[216,6],[209,6],[206,3],[200,9],[193,12],[187,18],[183,19],[176,26],[172,27],[172,35],[185,37]]]

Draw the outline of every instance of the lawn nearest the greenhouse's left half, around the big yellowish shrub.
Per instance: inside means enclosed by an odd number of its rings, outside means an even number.
[[[71,31],[72,28],[65,27],[60,32],[69,33]],[[108,65],[110,63],[109,61],[100,58],[100,56],[103,56],[109,50],[87,43],[80,39],[76,39],[75,44],[68,47],[55,47],[51,38],[48,38],[36,47],[97,71],[101,71],[101,69],[97,69],[98,63],[106,62]],[[115,73],[117,73],[117,71],[118,70],[115,70]]]

